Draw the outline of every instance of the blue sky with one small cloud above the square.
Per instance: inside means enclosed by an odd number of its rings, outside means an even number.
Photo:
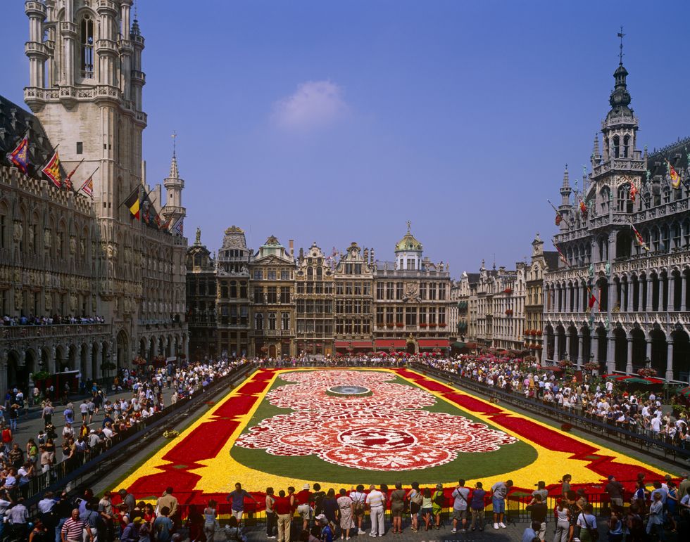
[[[23,103],[28,22],[4,5],[0,94]],[[232,224],[391,259],[406,220],[451,274],[555,231],[624,64],[639,143],[690,135],[686,1],[139,0],[149,183],[177,131],[185,229]],[[548,244],[551,247],[551,244]]]

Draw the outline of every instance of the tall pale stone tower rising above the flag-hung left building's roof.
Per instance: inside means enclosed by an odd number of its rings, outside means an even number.
[[[27,105],[70,171],[94,175],[96,214],[129,223],[120,203],[142,183],[142,50],[132,0],[27,1]],[[78,182],[81,177],[77,176]]]

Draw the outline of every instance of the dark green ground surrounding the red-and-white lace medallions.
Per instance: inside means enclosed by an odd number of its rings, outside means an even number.
[[[399,377],[391,380],[391,382],[414,387],[413,384]],[[286,382],[279,377],[275,379],[271,389],[290,385],[293,385],[293,382]],[[462,415],[472,421],[484,423],[471,414],[460,410],[460,408],[438,398],[435,404],[427,406],[425,410]],[[278,408],[270,404],[268,399],[264,399],[258,406],[251,421],[244,427],[243,432],[248,432],[250,427],[258,425],[261,420],[272,418],[272,416],[277,414],[289,414],[290,412],[291,409]],[[414,415],[414,411],[410,411],[410,416]],[[489,427],[500,430],[492,425],[489,425]],[[318,431],[317,427],[303,427],[302,429],[304,432]],[[327,480],[334,485],[344,486],[346,489],[353,484],[394,484],[395,482],[403,482],[403,484],[410,484],[411,482],[436,484],[438,482],[456,482],[460,477],[475,480],[485,477],[496,477],[503,472],[512,472],[525,467],[537,459],[537,451],[529,444],[520,440],[513,444],[501,446],[501,449],[494,452],[458,453],[456,460],[445,465],[398,472],[343,467],[328,463],[317,456],[272,456],[264,450],[247,449],[240,446],[233,446],[230,455],[239,463],[261,472],[299,479]]]

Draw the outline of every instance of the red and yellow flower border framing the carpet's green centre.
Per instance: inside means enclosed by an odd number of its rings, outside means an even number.
[[[258,498],[263,496],[266,486],[287,486],[314,482],[313,479],[296,480],[270,473],[253,470],[232,458],[230,470],[227,469],[228,453],[250,421],[258,405],[270,389],[273,380],[284,372],[295,369],[261,369],[249,380],[236,387],[215,408],[210,408],[199,420],[184,430],[179,438],[172,439],[155,453],[127,479],[118,482],[113,489],[128,488],[134,496],[152,498],[159,495],[167,486],[175,486],[175,493],[182,503],[205,503],[209,498],[225,502],[225,495],[232,490],[235,480],[242,480],[249,491]],[[311,369],[297,369],[311,370]],[[370,368],[354,370],[371,370]],[[663,476],[651,465],[646,465],[624,454],[603,446],[572,437],[567,432],[513,411],[501,408],[489,401],[465,394],[433,378],[406,368],[380,369],[398,375],[403,380],[426,390],[437,398],[456,405],[460,411],[472,413],[481,422],[527,442],[538,452],[537,460],[513,472],[498,477],[514,480],[517,490],[531,491],[534,479],[543,478],[543,472],[560,472],[567,464],[575,479],[582,484],[598,484],[608,477],[615,477],[627,490],[632,489],[639,472],[648,479]],[[227,454],[227,455],[225,455]],[[222,460],[220,460],[222,458]],[[225,465],[225,466],[224,466]],[[208,478],[207,478],[208,477]],[[222,489],[208,491],[204,482],[222,485]],[[444,481],[439,481],[444,482]],[[448,484],[454,481],[445,481]],[[334,484],[324,481],[323,484]],[[556,479],[549,481],[556,487]],[[214,486],[214,487],[215,487]],[[226,487],[227,486],[227,487]],[[258,499],[261,501],[261,499]]]

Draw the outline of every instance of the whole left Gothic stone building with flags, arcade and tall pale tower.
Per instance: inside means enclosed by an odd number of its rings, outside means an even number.
[[[102,378],[137,355],[187,351],[184,181],[173,153],[165,200],[146,183],[144,37],[131,6],[25,2],[32,113],[0,98],[0,294],[16,324],[0,335],[0,394],[35,373]],[[6,157],[24,138],[26,167]],[[148,195],[138,219],[121,205],[132,194]]]

